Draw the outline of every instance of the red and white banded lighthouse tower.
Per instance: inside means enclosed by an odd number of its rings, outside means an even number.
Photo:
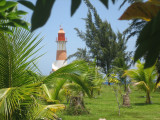
[[[67,65],[67,52],[66,52],[66,38],[65,38],[65,32],[63,28],[60,27],[60,30],[58,32],[58,39],[56,39],[57,42],[57,56],[56,61],[52,63],[52,71],[56,71],[59,68]]]

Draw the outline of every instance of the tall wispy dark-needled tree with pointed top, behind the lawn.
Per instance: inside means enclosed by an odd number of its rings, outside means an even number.
[[[85,3],[89,9],[87,18],[84,19],[86,31],[82,32],[78,28],[75,30],[86,43],[90,61],[96,58],[96,65],[102,68],[104,74],[108,75],[113,66],[121,68],[121,72],[117,70],[121,76],[123,70],[130,66],[130,52],[126,52],[127,40],[120,32],[116,34],[107,21],[102,21],[89,0],[85,0]],[[122,80],[122,82],[124,81]]]

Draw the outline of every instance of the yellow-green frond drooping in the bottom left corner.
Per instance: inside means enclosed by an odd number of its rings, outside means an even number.
[[[31,96],[39,96],[40,86],[41,83],[36,83],[22,87],[0,89],[0,114],[4,115],[4,119],[11,119],[15,110],[20,108],[22,101],[31,100]]]

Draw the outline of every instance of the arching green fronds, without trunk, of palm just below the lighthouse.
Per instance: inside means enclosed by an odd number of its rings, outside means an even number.
[[[56,83],[54,94],[52,96],[53,99],[58,99],[58,94],[67,80],[73,81],[76,84],[80,85],[82,89],[86,92],[86,94],[90,96],[88,86],[80,77],[80,75],[85,73],[86,70],[88,70],[88,65],[85,61],[74,61],[71,64],[64,66],[55,71],[54,73],[50,74],[43,80],[43,82],[45,84],[52,82]],[[57,78],[58,80],[56,80]]]

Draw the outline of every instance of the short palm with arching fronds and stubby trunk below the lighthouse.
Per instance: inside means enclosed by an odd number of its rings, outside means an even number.
[[[89,97],[91,97],[91,95],[88,85],[81,77],[81,74],[86,72],[87,67],[87,63],[83,60],[74,61],[45,78],[43,82],[47,82],[46,84],[49,83],[50,85],[52,84],[54,89],[54,91],[51,92],[51,99],[60,100],[61,91],[71,91],[71,96],[67,99],[70,100],[70,105],[75,101],[74,105],[72,105],[72,108],[74,108],[72,112],[74,113],[76,111],[75,113],[77,113],[77,107],[81,108],[83,112],[88,112],[84,106],[83,95],[84,93]],[[70,107],[71,106],[69,106],[69,108]]]

